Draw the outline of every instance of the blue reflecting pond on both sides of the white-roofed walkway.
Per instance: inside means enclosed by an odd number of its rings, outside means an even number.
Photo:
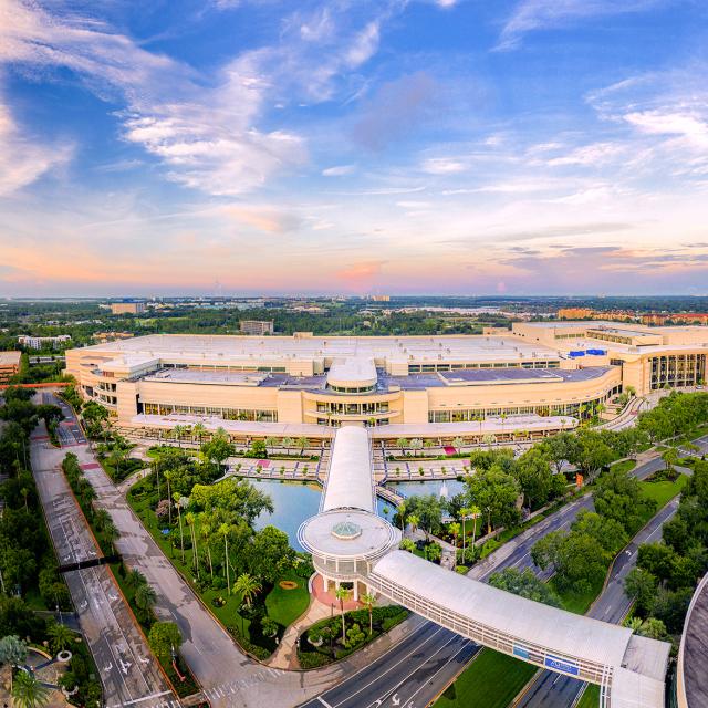
[[[320,498],[322,489],[314,483],[302,485],[300,482],[279,481],[274,479],[249,480],[256,489],[266,492],[273,500],[274,511],[269,513],[264,511],[256,520],[256,528],[262,529],[271,524],[284,531],[290,539],[291,545],[298,551],[302,551],[302,546],[298,543],[298,528],[310,517],[313,517],[320,510]],[[462,491],[465,485],[457,480],[447,480],[445,482],[448,488],[448,496]],[[442,487],[441,481],[424,481],[424,482],[393,482],[387,485],[393,489],[397,489],[406,497],[415,494],[439,494]],[[393,521],[395,507],[382,499],[376,500],[378,516]],[[384,511],[388,510],[388,514]]]

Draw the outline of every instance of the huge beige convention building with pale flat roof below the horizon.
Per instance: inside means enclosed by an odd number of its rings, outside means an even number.
[[[544,435],[639,395],[695,386],[708,331],[517,323],[473,336],[150,335],[66,352],[86,398],[126,428],[202,423],[235,437]]]

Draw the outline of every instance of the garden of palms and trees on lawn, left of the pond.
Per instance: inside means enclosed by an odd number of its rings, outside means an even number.
[[[231,456],[216,437],[200,459],[174,447],[154,448],[152,471],[127,499],[155,541],[241,646],[270,656],[285,627],[310,603],[306,556],[288,534],[254,521],[272,511],[271,499],[246,480],[211,483]]]

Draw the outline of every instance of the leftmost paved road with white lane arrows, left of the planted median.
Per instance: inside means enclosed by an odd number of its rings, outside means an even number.
[[[41,424],[32,435],[32,471],[59,562],[95,559],[101,551],[60,470],[63,457],[64,452],[46,440]],[[174,695],[108,569],[72,571],[64,579],[101,674],[106,705],[168,706]]]

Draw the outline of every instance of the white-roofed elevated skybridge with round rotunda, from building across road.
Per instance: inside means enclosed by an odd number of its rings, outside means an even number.
[[[498,590],[398,550],[375,513],[365,428],[336,433],[320,513],[299,529],[325,583],[376,591],[436,624],[535,666],[601,687],[603,708],[663,708],[670,646]]]

